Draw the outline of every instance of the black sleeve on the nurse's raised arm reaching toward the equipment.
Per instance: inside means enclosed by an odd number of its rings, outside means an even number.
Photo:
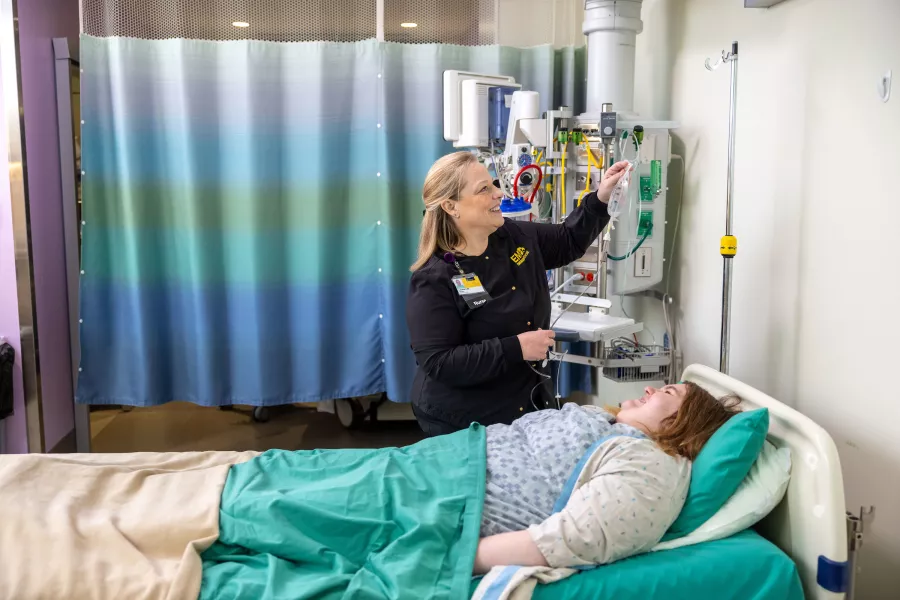
[[[569,213],[558,225],[517,221],[516,225],[535,240],[544,266],[548,269],[563,267],[578,260],[587,252],[606,224],[609,213],[606,204],[597,198],[597,192],[587,194],[581,206]]]

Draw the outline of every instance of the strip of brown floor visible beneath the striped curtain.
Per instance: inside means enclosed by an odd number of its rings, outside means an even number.
[[[333,414],[314,406],[274,408],[255,423],[249,407],[234,410],[173,402],[152,408],[91,411],[93,452],[185,452],[194,450],[312,450],[406,446],[423,438],[415,421],[366,422],[345,429]]]

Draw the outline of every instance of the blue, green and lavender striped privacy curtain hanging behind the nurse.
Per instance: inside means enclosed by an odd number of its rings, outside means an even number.
[[[406,401],[442,72],[583,97],[551,47],[82,37],[77,400]]]

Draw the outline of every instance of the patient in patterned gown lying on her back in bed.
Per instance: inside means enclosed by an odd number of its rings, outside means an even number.
[[[475,573],[603,564],[648,551],[681,511],[690,461],[736,412],[687,383],[648,387],[610,412],[567,404],[488,427]],[[554,511],[598,440],[605,441],[588,463],[590,482]]]

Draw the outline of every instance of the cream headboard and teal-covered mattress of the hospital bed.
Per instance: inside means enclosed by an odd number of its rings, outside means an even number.
[[[693,365],[682,379],[716,397],[737,395],[744,410],[769,410],[768,440],[789,448],[792,456],[791,480],[780,504],[754,528],[538,585],[534,600],[843,598],[852,585],[852,562],[847,561],[843,482],[831,437],[785,404],[708,367]]]

